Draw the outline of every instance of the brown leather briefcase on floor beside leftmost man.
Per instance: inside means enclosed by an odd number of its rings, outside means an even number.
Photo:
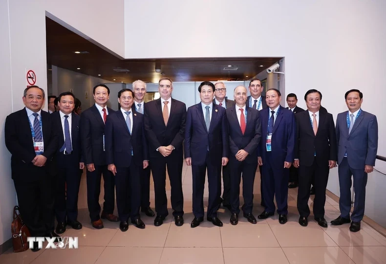
[[[31,234],[17,211],[20,212],[19,206],[13,208],[13,221],[11,224],[12,243],[15,252],[22,252],[29,248],[27,237],[30,237]]]

